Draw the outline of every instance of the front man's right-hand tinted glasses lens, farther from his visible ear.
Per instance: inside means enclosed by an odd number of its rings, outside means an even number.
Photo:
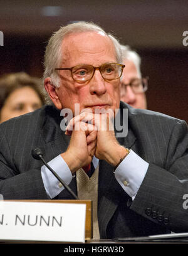
[[[102,77],[107,80],[120,78],[122,75],[122,66],[117,63],[104,64],[100,67]]]

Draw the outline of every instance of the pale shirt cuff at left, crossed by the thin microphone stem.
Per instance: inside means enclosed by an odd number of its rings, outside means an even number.
[[[70,184],[73,176],[65,160],[60,155],[56,156],[48,162],[48,164],[58,174],[58,176],[65,181],[66,184]],[[61,191],[63,191],[64,186],[45,165],[41,167],[41,176],[46,193],[50,198],[55,198],[55,196],[59,195]]]

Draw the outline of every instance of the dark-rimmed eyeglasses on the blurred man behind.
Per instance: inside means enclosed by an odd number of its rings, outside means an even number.
[[[148,86],[148,80],[149,77],[141,78],[141,79],[133,79],[130,83],[127,85],[125,83],[122,83],[121,85],[121,95],[127,92],[127,86],[130,86],[132,88],[133,93],[144,93],[147,91]]]

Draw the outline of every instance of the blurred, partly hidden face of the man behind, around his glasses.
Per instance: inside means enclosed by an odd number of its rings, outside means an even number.
[[[121,88],[121,100],[127,104],[135,107],[135,109],[147,109],[147,102],[145,98],[145,93],[135,94],[130,86],[126,87],[123,85],[128,85],[134,79],[140,78],[137,72],[137,68],[134,63],[130,60],[123,61],[125,68],[122,74],[122,88]]]

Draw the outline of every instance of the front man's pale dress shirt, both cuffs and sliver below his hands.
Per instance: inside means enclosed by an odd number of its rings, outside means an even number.
[[[97,168],[98,161],[99,160],[94,156],[92,162],[95,168]],[[63,160],[63,157],[60,155],[52,159],[48,164],[66,184],[70,184],[71,180],[75,178],[68,168],[68,165]],[[130,150],[130,153],[118,165],[117,169],[115,169],[115,178],[125,192],[132,197],[132,200],[137,195],[137,191],[142,184],[148,166],[149,163]],[[50,198],[55,198],[55,196],[59,195],[64,189],[60,181],[58,181],[53,173],[44,165],[41,167],[41,176],[46,193]]]

